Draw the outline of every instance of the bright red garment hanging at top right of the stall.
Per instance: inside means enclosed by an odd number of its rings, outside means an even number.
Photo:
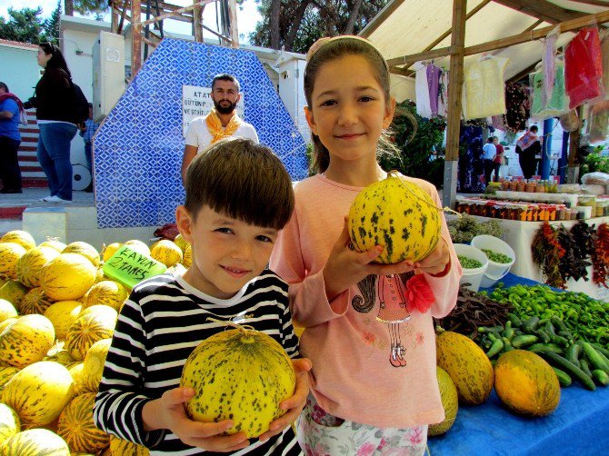
[[[596,27],[582,28],[564,47],[564,86],[569,107],[574,108],[603,94],[601,44]]]

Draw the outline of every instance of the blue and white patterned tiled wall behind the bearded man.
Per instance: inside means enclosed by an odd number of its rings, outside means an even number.
[[[293,180],[306,177],[302,135],[263,65],[249,51],[165,39],[95,135],[95,205],[99,228],[175,222],[184,203],[182,85],[211,86],[235,74],[245,93],[245,121],[271,147]]]

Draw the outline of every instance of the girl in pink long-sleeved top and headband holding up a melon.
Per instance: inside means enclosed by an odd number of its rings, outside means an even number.
[[[394,115],[374,46],[354,36],[316,42],[304,93],[319,173],[295,186],[295,213],[271,257],[313,362],[299,441],[307,454],[422,454],[427,424],[444,420],[432,317],[453,309],[461,267],[444,216],[442,239],[419,263],[374,263],[383,246],[350,245],[345,216],[357,193],[386,177],[376,152]],[[400,177],[440,210],[431,183]]]

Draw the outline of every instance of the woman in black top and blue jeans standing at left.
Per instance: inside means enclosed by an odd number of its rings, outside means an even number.
[[[34,96],[24,106],[36,108],[40,130],[36,155],[51,192],[41,201],[72,203],[70,144],[78,132],[72,74],[64,55],[52,43],[40,45],[37,58],[38,64],[45,68],[45,74],[36,84]]]

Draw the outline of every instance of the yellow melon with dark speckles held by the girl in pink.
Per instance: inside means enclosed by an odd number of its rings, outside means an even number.
[[[357,252],[384,247],[376,263],[418,262],[440,240],[441,208],[417,184],[391,174],[364,188],[349,210],[349,235]]]

